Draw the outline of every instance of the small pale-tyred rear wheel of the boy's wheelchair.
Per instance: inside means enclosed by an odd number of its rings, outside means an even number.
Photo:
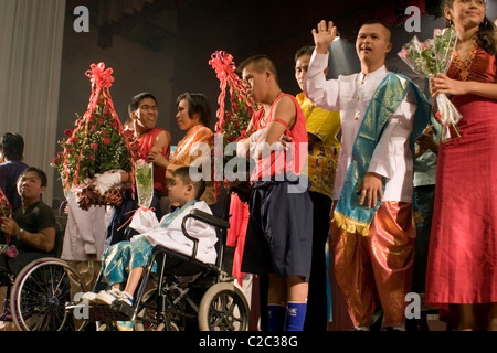
[[[202,297],[200,331],[248,331],[248,303],[233,282],[216,284]]]

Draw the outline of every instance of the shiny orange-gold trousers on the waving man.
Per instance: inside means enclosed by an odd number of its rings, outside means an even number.
[[[405,320],[405,295],[411,289],[415,225],[412,205],[383,202],[368,236],[348,233],[331,222],[334,272],[355,327],[369,325],[383,309],[383,327]]]

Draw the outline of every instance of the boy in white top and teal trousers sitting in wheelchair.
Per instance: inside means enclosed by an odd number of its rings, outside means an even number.
[[[212,212],[204,201],[199,201],[205,190],[205,181],[193,181],[189,172],[188,165],[176,169],[168,186],[171,203],[178,203],[178,208],[165,215],[157,226],[135,235],[130,240],[114,244],[102,254],[102,274],[112,288],[96,296],[88,293],[89,301],[112,304],[115,300],[120,300],[133,306],[134,293],[145,267],[149,265],[154,246],[160,245],[181,254],[192,254],[193,243],[181,231],[183,217],[192,208],[209,214]],[[199,239],[195,258],[202,263],[214,264],[218,256],[214,227],[193,218],[187,221],[186,227],[190,236]]]

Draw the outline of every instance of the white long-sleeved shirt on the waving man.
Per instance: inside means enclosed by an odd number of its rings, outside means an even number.
[[[329,54],[314,52],[304,79],[304,93],[318,107],[340,111],[342,135],[334,188],[334,200],[338,200],[362,118],[376,89],[389,71],[382,66],[366,76],[359,73],[327,81],[322,71],[328,66],[328,56]],[[416,99],[410,88],[404,100],[391,115],[374,148],[368,171],[387,179],[382,201],[412,202],[413,156],[410,136],[415,110]]]

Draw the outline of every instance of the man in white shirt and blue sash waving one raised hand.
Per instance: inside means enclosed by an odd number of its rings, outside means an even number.
[[[369,21],[356,50],[361,73],[326,79],[334,23],[313,30],[316,50],[304,81],[314,104],[339,110],[341,150],[334,189],[334,271],[355,330],[369,330],[383,309],[384,330],[405,330],[414,252],[413,143],[431,106],[406,77],[384,66],[390,30]]]

